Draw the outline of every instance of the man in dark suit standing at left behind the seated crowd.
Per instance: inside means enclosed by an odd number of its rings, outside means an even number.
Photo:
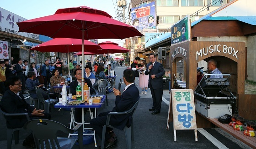
[[[16,70],[17,76],[20,78],[21,83],[22,83],[22,88],[21,92],[22,94],[27,94],[25,91],[25,71],[26,71],[26,66],[22,66],[22,60],[21,58],[18,59],[18,64],[15,65],[14,70]]]

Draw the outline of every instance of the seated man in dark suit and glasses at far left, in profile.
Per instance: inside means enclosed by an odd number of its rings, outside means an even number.
[[[11,76],[6,79],[5,85],[8,88],[0,102],[1,109],[6,113],[27,113],[30,119],[51,119],[51,115],[44,113],[44,110],[31,108],[21,94],[21,80],[18,76]],[[27,122],[26,117],[5,117],[7,128],[21,128]],[[23,142],[23,146],[35,148],[33,135],[30,134]]]

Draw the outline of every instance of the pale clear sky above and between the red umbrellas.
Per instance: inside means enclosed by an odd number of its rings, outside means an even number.
[[[129,2],[130,0],[127,0],[127,5]],[[117,16],[117,0],[3,0],[0,3],[1,8],[20,15],[27,20],[53,15],[59,8],[77,6],[88,6],[98,10],[104,10],[113,18]],[[126,8],[127,11],[128,6]],[[118,39],[104,39],[98,40],[98,42],[107,40],[123,45],[122,40]]]

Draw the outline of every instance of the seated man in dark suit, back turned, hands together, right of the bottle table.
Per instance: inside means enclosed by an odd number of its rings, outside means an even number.
[[[113,88],[114,94],[116,95],[116,106],[112,109],[112,111],[103,112],[99,114],[99,117],[95,119],[91,119],[91,128],[95,130],[96,134],[102,139],[102,127],[106,124],[107,114],[109,112],[123,112],[131,109],[133,105],[139,100],[139,89],[134,84],[135,72],[133,70],[124,70],[123,71],[123,82],[126,84],[125,90],[121,95],[121,92],[118,89]],[[126,124],[131,124],[131,115],[112,115],[109,121],[109,124],[113,127],[123,130]],[[104,149],[111,148],[117,145],[117,137],[113,132],[112,128],[107,128],[105,134],[105,143]]]

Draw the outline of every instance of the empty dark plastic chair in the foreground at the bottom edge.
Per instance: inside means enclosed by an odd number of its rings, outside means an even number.
[[[73,129],[48,119],[33,119],[24,125],[24,129],[31,129],[37,149],[72,149],[76,141],[79,148],[83,148],[83,127],[77,124]],[[59,138],[57,132],[72,134],[78,131],[77,138]]]

